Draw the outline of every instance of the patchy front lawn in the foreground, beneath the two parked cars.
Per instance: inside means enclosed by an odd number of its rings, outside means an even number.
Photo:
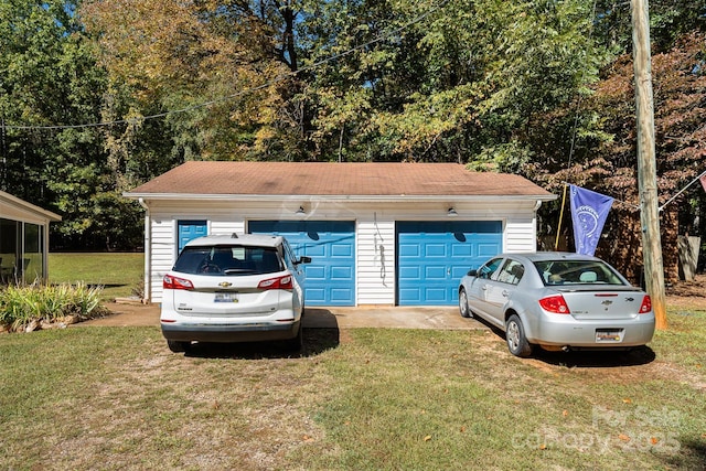
[[[706,311],[651,349],[520,360],[495,333],[310,329],[306,351],[157,328],[0,335],[0,469],[702,470]]]

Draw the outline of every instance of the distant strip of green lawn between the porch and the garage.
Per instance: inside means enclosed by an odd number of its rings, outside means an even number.
[[[103,299],[126,298],[145,274],[142,253],[66,253],[49,255],[49,281],[104,286]]]

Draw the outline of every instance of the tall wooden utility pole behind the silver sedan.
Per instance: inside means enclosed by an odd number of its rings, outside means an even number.
[[[664,266],[660,237],[660,210],[654,147],[654,106],[652,99],[652,65],[650,56],[650,12],[648,0],[631,0],[632,44],[635,73],[635,106],[638,121],[638,182],[642,258],[648,293],[652,298],[656,329],[666,329]]]

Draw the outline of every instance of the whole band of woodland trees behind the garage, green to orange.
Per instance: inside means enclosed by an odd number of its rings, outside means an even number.
[[[62,214],[53,240],[66,247],[139,244],[139,208],[121,192],[195,159],[451,161],[557,193],[584,184],[632,207],[629,8],[7,0],[2,189]],[[666,200],[704,170],[706,1],[650,9]],[[665,225],[704,234],[703,195],[680,203]],[[558,211],[543,213],[544,233]]]

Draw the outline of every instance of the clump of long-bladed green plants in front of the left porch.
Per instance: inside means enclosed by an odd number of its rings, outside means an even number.
[[[84,282],[57,286],[8,286],[0,289],[0,324],[21,330],[32,321],[61,322],[69,315],[89,319],[104,313],[103,287]]]

